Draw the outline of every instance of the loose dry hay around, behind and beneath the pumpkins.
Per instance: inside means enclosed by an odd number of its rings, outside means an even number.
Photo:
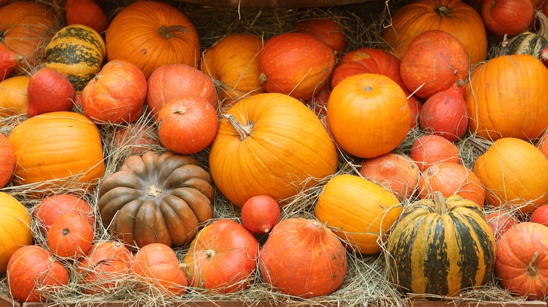
[[[133,1],[104,1],[106,2],[106,11],[110,19],[113,18],[122,7]],[[233,33],[253,33],[268,39],[269,37],[282,32],[294,30],[294,22],[306,18],[327,17],[337,20],[344,26],[346,38],[348,41],[347,51],[363,47],[383,48],[386,47],[381,40],[381,31],[386,25],[389,25],[389,13],[401,3],[398,1],[368,2],[358,5],[335,6],[330,8],[301,8],[301,9],[246,9],[246,8],[219,8],[202,7],[190,4],[183,4],[181,1],[171,2],[174,6],[184,11],[193,21],[202,40],[202,48],[208,48],[213,43],[227,34]],[[60,9],[56,4],[56,8]],[[0,118],[0,132],[4,135],[8,133],[23,121],[25,116],[12,116]],[[155,119],[153,116],[142,116],[136,127],[137,129],[147,129],[154,134]],[[122,144],[114,145],[113,135],[116,130],[123,128],[123,125],[103,124],[99,125],[100,132],[104,140],[104,154],[107,170],[105,177],[116,172],[122,165],[125,158],[131,155],[133,149],[150,150],[161,153],[165,151],[158,145],[138,145],[137,139],[133,137],[136,133],[130,133],[129,137]],[[144,128],[143,128],[144,127]],[[419,129],[410,130],[405,140],[398,146],[396,151],[408,153],[412,142],[423,135],[424,132]],[[463,164],[472,168],[475,158],[485,151],[488,142],[478,139],[474,135],[467,135],[457,143]],[[195,158],[205,168],[208,167],[209,149],[195,155]],[[337,174],[358,175],[360,159],[348,156],[339,149],[339,170]],[[333,175],[334,176],[334,175]],[[293,198],[287,200],[288,204],[282,207],[282,219],[289,217],[304,217],[313,219],[313,207],[322,191],[322,187],[331,179],[332,176],[318,179],[318,184],[301,191]],[[28,186],[11,186],[0,189],[11,193],[18,198],[32,212],[33,207],[37,205],[37,199],[28,198],[27,195],[33,191],[41,191],[39,184]],[[41,191],[44,192],[44,191]],[[46,193],[76,193],[84,197],[96,210],[96,238],[95,242],[110,240],[110,236],[105,226],[100,221],[100,214],[96,203],[98,201],[98,189],[87,193],[85,189],[76,189],[74,186],[59,187],[56,191],[45,191]],[[409,205],[415,198],[406,200],[402,205]],[[214,219],[240,219],[240,209],[233,206],[220,192],[216,191],[216,200],[214,205]],[[209,223],[208,221],[207,223]],[[33,225],[33,231],[36,243],[46,244],[46,238],[37,231],[37,226]],[[266,236],[258,236],[260,243],[264,243]],[[180,259],[186,252],[186,248],[176,248],[176,254]],[[190,301],[211,301],[216,300],[237,300],[252,305],[262,300],[275,301],[276,304],[290,304],[292,306],[313,306],[334,304],[337,306],[366,306],[376,304],[380,306],[403,306],[405,303],[416,298],[413,295],[406,295],[400,292],[388,278],[386,250],[380,254],[366,256],[347,252],[348,273],[341,287],[334,293],[313,299],[299,299],[292,296],[281,294],[275,289],[271,289],[261,280],[260,274],[253,276],[253,282],[249,289],[233,294],[216,294],[213,292],[204,292],[202,289],[188,288],[188,293],[183,296],[167,297],[162,295],[159,289],[147,287],[144,290],[140,287],[143,283],[132,275],[118,276],[115,278],[117,287],[115,289],[105,289],[97,294],[86,294],[86,287],[98,287],[99,285],[81,285],[81,273],[77,272],[78,265],[74,261],[65,261],[72,278],[69,285],[58,289],[57,292],[50,294],[46,303],[48,306],[66,306],[74,304],[76,306],[97,301],[126,301],[132,306],[164,306],[169,303],[183,304]],[[5,275],[0,280],[0,294],[9,296],[6,285]],[[46,291],[47,289],[41,289]],[[447,299],[455,303],[462,301],[523,301],[523,298],[511,296],[507,291],[497,285],[497,280],[493,276],[491,282],[481,289],[471,289],[462,292],[458,297],[436,297],[430,299]]]

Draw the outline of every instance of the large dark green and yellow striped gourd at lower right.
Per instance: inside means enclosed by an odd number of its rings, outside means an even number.
[[[457,296],[485,285],[495,237],[476,203],[441,192],[403,210],[387,243],[391,280],[405,293]]]

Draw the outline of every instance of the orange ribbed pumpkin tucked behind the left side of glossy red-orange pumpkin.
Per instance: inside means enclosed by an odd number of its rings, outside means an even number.
[[[263,40],[254,34],[230,34],[207,49],[200,69],[216,81],[223,107],[243,97],[263,93],[257,55]]]

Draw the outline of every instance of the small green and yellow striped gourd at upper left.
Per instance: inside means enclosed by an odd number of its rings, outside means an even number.
[[[45,49],[46,67],[67,76],[76,93],[100,71],[105,41],[91,27],[69,25],[60,29]]]

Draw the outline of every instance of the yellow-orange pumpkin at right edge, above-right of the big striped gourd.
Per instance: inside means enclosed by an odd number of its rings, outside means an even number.
[[[548,203],[548,159],[523,139],[497,139],[476,158],[474,173],[490,205],[524,206],[521,211],[527,213]]]

